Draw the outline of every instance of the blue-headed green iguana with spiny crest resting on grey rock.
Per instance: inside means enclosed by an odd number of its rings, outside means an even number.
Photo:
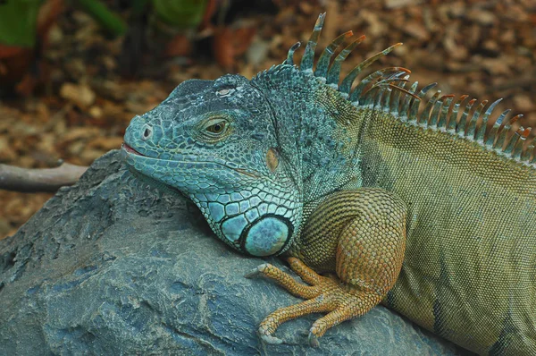
[[[473,352],[536,354],[536,160],[523,150],[521,115],[498,101],[474,106],[406,88],[387,68],[356,84],[365,60],[339,84],[331,61],[314,67],[324,14],[299,67],[285,62],[248,81],[224,75],[181,83],[132,119],[123,152],[147,182],[180,191],[214,233],[252,256],[282,255],[307,284],[269,264],[265,275],[306,301],[259,326],[267,343],[281,323],[312,312],[309,340],[378,303]],[[421,105],[425,102],[425,105]],[[319,275],[318,273],[323,273]]]

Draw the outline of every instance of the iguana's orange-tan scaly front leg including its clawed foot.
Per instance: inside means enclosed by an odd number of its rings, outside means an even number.
[[[385,297],[397,281],[405,247],[406,206],[400,199],[379,189],[332,194],[307,219],[303,233],[290,250],[299,258],[289,258],[290,267],[311,285],[298,283],[269,264],[247,275],[269,277],[306,299],[264,318],[259,335],[267,343],[281,343],[272,336],[281,323],[327,312],[309,332],[309,342],[317,346],[317,338],[331,326],[363,315]],[[318,275],[307,265],[333,269],[337,275]]]

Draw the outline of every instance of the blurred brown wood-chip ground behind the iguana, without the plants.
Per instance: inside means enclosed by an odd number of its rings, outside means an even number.
[[[180,81],[214,79],[225,72],[251,77],[280,64],[294,42],[308,38],[323,11],[328,14],[319,48],[346,30],[367,35],[344,71],[367,55],[404,42],[373,70],[400,65],[412,70],[414,81],[440,82],[444,93],[504,97],[499,109],[510,107],[516,114],[525,114],[525,127],[536,123],[533,0],[273,3],[276,14],[249,13],[231,25],[245,27],[249,34],[250,29],[257,30],[245,55],[219,58],[230,71],[197,48],[189,59],[152,58],[135,80],[118,74],[121,38],[105,39],[84,13],[64,13],[48,34],[45,85],[34,97],[4,99],[0,104],[0,163],[51,167],[61,158],[90,165],[106,151],[119,148],[130,118],[157,105]],[[214,34],[218,30],[206,36]],[[232,52],[238,46],[230,36],[218,38],[220,48]],[[0,191],[0,239],[13,234],[51,196]]]

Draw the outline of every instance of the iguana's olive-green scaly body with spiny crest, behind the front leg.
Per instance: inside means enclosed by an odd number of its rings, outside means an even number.
[[[500,99],[487,106],[440,90],[430,96],[436,83],[418,89],[400,67],[373,72],[352,89],[365,67],[399,44],[364,60],[339,84],[340,64],[363,38],[331,62],[349,33],[339,36],[313,71],[323,21],[321,14],[298,70],[331,89],[314,89],[317,103],[329,97],[332,107],[346,110],[334,121],[356,131],[348,136],[354,185],[392,191],[408,207],[404,266],[383,303],[474,352],[536,352],[536,157],[534,139],[525,144],[531,129],[513,128],[523,115],[495,114]],[[297,47],[284,64],[294,64]],[[334,191],[355,188],[330,184]],[[290,253],[299,255],[304,243],[298,237]]]

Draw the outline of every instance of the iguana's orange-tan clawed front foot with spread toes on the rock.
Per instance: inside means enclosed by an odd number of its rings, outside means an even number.
[[[264,318],[258,333],[266,343],[282,342],[281,339],[272,335],[285,321],[315,312],[327,312],[328,314],[316,320],[309,330],[309,343],[317,347],[320,344],[318,338],[331,326],[362,315],[381,301],[382,297],[377,292],[342,284],[334,275],[318,275],[299,259],[289,258],[289,265],[303,281],[311,285],[297,282],[292,276],[270,264],[260,265],[247,275],[248,277],[264,275],[281,284],[297,297],[306,299],[296,305],[277,309]]]

